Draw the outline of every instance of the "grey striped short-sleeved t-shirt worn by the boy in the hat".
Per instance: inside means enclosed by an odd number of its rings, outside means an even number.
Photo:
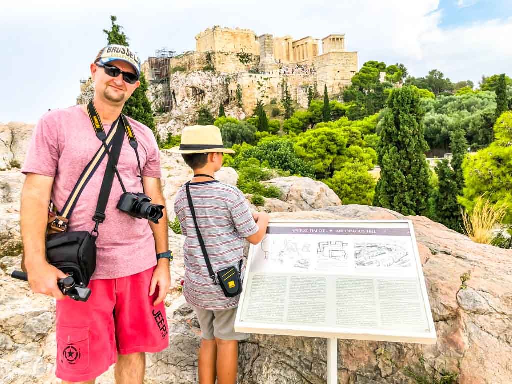
[[[219,181],[190,184],[197,222],[203,236],[211,267],[215,274],[228,267],[240,266],[246,241],[244,238],[258,232],[245,196],[240,189]],[[226,297],[219,285],[214,285],[208,273],[194,218],[188,206],[185,186],[176,194],[174,210],[186,236],[183,245],[186,301],[207,310],[236,308],[240,296]],[[242,267],[242,276],[245,265]]]

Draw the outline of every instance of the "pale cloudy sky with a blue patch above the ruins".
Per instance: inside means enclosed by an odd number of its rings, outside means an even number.
[[[144,4],[145,3],[145,4]],[[76,104],[80,80],[106,45],[116,15],[144,61],[159,49],[196,49],[195,36],[220,25],[258,36],[322,39],[345,34],[368,60],[403,63],[410,75],[438,69],[452,81],[512,76],[512,0],[17,0],[0,2],[0,123],[35,123]]]

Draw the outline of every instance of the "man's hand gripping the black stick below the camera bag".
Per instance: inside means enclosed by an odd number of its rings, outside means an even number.
[[[68,275],[46,261],[28,267],[29,286],[34,293],[42,293],[62,300],[66,296],[60,291],[57,281]]]

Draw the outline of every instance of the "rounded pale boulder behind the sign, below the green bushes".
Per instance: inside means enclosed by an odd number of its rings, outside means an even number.
[[[292,211],[307,211],[340,206],[342,201],[334,191],[321,181],[307,177],[281,177],[263,184],[278,187],[283,193],[282,201],[292,206]]]

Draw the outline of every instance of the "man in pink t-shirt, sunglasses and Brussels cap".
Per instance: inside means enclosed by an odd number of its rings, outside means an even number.
[[[140,59],[129,48],[108,46],[91,64],[93,103],[108,134],[124,103],[140,86]],[[165,206],[160,184],[160,151],[152,131],[127,119],[138,142],[137,156],[124,137],[117,168],[126,191],[144,193]],[[45,233],[50,200],[60,211],[84,168],[101,146],[87,105],[55,110],[38,122],[22,172],[27,175],[21,208],[24,268],[36,293],[57,299],[56,375],[65,383],[94,383],[116,363],[116,383],[142,384],[145,352],[169,342],[163,300],[170,286],[167,215],[158,224],[117,208],[123,190],[114,179],[99,225],[97,263],[85,303],[63,296],[58,279],[66,275],[46,259]],[[68,231],[92,231],[105,157],[83,189],[69,218]],[[140,176],[139,176],[140,175]],[[143,181],[143,185],[141,181]],[[143,189],[144,188],[144,189]]]

